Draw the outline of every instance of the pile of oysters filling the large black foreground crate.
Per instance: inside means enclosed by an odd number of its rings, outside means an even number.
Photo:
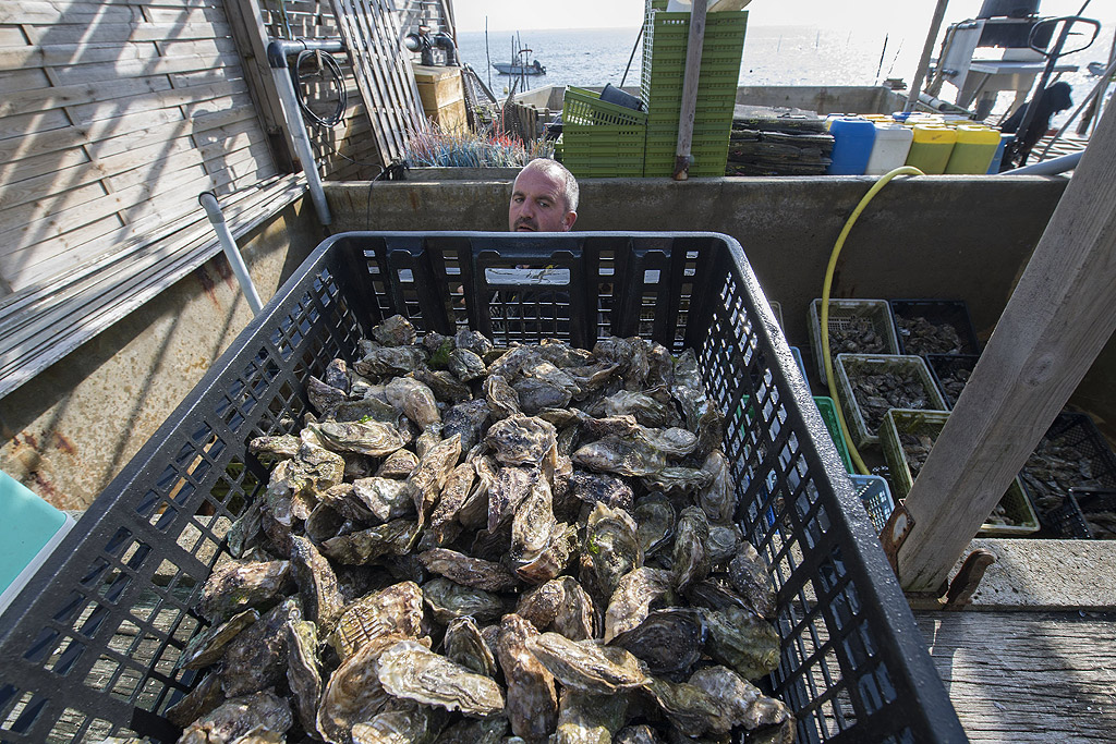
[[[203,587],[183,743],[790,742],[768,571],[691,352],[377,326]]]

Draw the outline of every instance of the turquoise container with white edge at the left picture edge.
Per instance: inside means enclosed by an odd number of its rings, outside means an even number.
[[[74,519],[0,471],[0,612],[54,552]]]

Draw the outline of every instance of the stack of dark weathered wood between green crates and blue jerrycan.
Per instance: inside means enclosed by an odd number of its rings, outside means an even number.
[[[825,175],[833,147],[814,112],[737,106],[725,175]]]

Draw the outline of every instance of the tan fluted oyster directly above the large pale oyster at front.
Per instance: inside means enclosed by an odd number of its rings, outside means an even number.
[[[345,661],[378,638],[417,638],[422,634],[422,589],[414,581],[375,591],[348,605],[326,640]]]

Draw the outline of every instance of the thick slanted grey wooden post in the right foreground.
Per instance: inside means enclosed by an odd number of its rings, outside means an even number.
[[[1008,176],[1001,176],[1008,177]],[[1116,107],[1101,117],[905,505],[903,588],[936,590],[1116,328]]]

